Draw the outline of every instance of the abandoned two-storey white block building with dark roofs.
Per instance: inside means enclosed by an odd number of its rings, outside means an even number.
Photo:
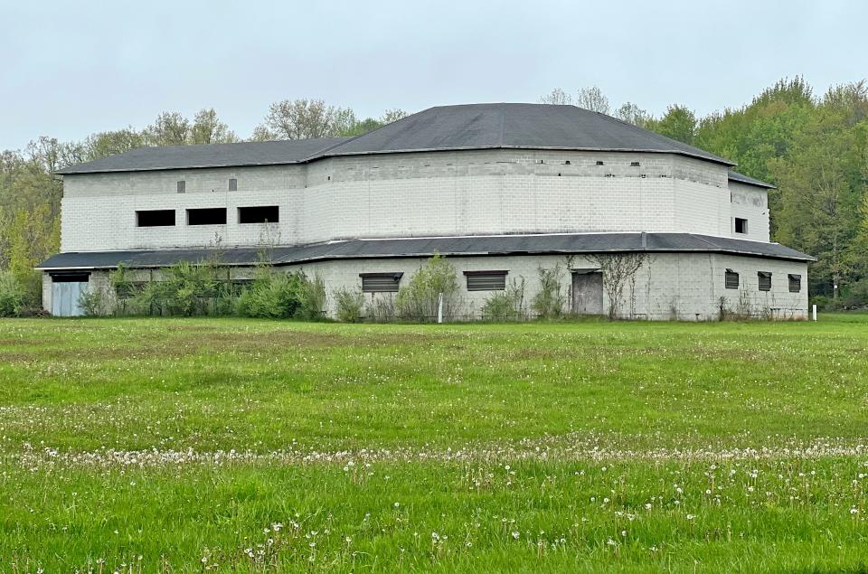
[[[458,269],[463,315],[511,279],[530,300],[555,265],[572,311],[605,313],[601,261],[645,254],[617,315],[805,317],[813,259],[769,242],[771,186],[732,167],[542,104],[430,108],[352,138],[141,148],[59,172],[61,253],[40,266],[43,304],[76,315],[120,263],[158,276],[218,247],[231,278],[250,277],[267,244],[275,265],[371,297],[439,252]]]

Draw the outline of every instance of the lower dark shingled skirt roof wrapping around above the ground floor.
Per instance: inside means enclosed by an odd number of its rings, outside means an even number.
[[[574,233],[552,235],[496,235],[435,237],[385,240],[345,240],[277,247],[269,250],[275,265],[328,259],[377,259],[430,257],[434,253],[462,257],[471,255],[521,255],[558,253],[606,253],[625,251],[715,252],[770,259],[814,260],[809,255],[778,243],[734,240],[693,233]],[[200,261],[218,257],[227,265],[251,265],[260,259],[259,248],[156,249],[137,251],[70,252],[55,255],[39,265],[41,269],[154,268],[178,261]]]

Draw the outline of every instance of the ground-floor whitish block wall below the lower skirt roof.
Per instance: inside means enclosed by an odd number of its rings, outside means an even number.
[[[464,271],[508,271],[507,284],[525,285],[525,307],[533,315],[533,297],[539,292],[539,269],[561,268],[561,293],[566,308],[571,305],[571,272],[574,268],[597,268],[599,262],[586,256],[567,259],[564,256],[489,256],[448,259],[456,268],[458,284],[458,319],[475,319],[481,315],[486,299],[494,291],[467,291]],[[426,259],[347,259],[310,263],[283,270],[304,270],[308,275],[318,274],[325,281],[328,294],[328,315],[335,315],[335,292],[339,289],[360,291],[360,273],[402,273],[401,286],[426,263]],[[740,274],[738,289],[724,287],[727,268]],[[759,271],[772,273],[772,288],[760,291]],[[231,278],[252,278],[252,268],[233,268]],[[131,270],[131,280],[159,278],[160,272]],[[802,276],[798,293],[790,293],[788,274]],[[43,305],[51,308],[51,279],[45,274]],[[98,271],[91,275],[93,288],[109,288],[108,273]],[[393,299],[396,294],[366,294],[374,298]],[[603,306],[609,309],[609,293],[604,290]],[[762,259],[715,253],[658,253],[649,254],[635,275],[635,282],[627,281],[624,292],[615,306],[623,318],[684,321],[710,321],[720,318],[721,309],[727,313],[763,318],[807,318],[807,264],[798,261]]]

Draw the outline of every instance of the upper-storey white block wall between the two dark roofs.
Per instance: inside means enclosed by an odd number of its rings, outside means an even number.
[[[602,162],[603,165],[597,165]],[[639,165],[634,166],[632,163]],[[238,191],[230,192],[229,179]],[[186,192],[177,193],[184,180]],[[742,186],[750,187],[750,186]],[[733,236],[726,168],[678,155],[534,150],[358,155],[309,165],[78,174],[64,178],[61,249],[95,251],[333,239],[531,232],[671,231]],[[237,208],[279,205],[276,224]],[[225,225],[184,210],[225,207]],[[136,211],[175,209],[175,227],[137,228]],[[768,236],[768,218],[751,234]],[[752,238],[750,238],[752,239]]]

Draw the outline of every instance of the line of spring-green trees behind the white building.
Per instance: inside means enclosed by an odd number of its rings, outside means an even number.
[[[554,89],[540,101],[575,104],[645,127],[738,163],[738,170],[772,183],[772,240],[817,258],[809,292],[821,306],[868,305],[868,86],[846,83],[817,96],[802,78],[780,80],[738,108],[697,116],[674,104],[654,117],[633,102],[618,107],[599,88]],[[357,136],[406,113],[359,118],[352,108],[318,99],[269,106],[248,141]],[[33,267],[60,249],[62,185],[55,170],[141,146],[243,141],[202,109],[193,118],[163,112],[141,129],[127,126],[77,142],[40,136],[22,150],[0,153],[0,270],[8,271],[38,305]]]

